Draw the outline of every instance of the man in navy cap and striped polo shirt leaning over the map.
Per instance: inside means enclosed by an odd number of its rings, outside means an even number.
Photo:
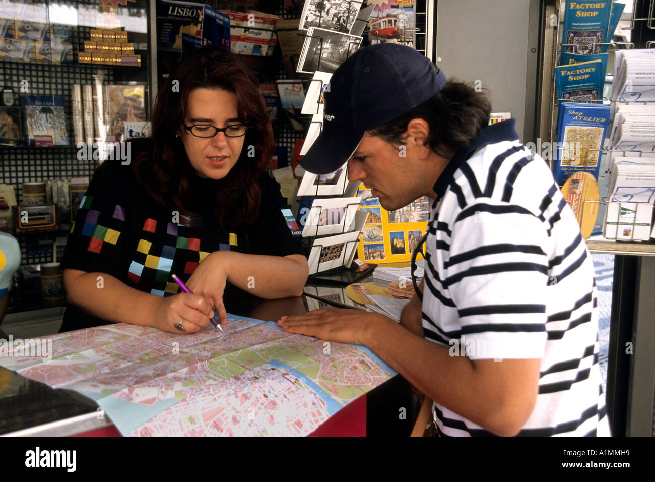
[[[392,43],[339,66],[325,102],[301,165],[347,161],[389,211],[428,197],[425,275],[400,325],[336,309],[278,325],[373,350],[434,400],[440,435],[608,435],[591,257],[514,119],[488,125],[485,94]]]

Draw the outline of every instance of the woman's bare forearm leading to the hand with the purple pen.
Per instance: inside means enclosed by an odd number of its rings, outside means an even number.
[[[68,301],[97,317],[116,323],[154,326],[161,299],[155,294],[128,287],[107,273],[64,270]]]

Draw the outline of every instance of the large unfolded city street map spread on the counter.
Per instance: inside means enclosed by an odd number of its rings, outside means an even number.
[[[0,365],[94,399],[123,435],[307,435],[396,374],[367,348],[272,322],[224,328],[88,328],[46,337],[51,361],[5,348]]]

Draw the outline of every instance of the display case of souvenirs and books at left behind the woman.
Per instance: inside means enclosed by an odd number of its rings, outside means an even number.
[[[0,3],[0,187],[16,205],[0,205],[0,230],[20,243],[23,281],[10,290],[10,312],[42,306],[30,273],[60,260],[115,143],[149,131],[152,20],[145,0]]]

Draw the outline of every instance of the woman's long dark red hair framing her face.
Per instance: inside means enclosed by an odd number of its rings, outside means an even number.
[[[199,87],[233,92],[238,115],[250,126],[236,165],[225,178],[215,181],[210,201],[223,228],[252,224],[261,204],[257,180],[271,159],[274,139],[257,77],[236,54],[205,47],[178,64],[159,89],[151,143],[134,160],[134,174],[162,205],[196,214],[189,206],[196,205],[193,182],[197,176],[176,133],[185,119],[189,92]],[[248,157],[253,152],[254,157]]]

